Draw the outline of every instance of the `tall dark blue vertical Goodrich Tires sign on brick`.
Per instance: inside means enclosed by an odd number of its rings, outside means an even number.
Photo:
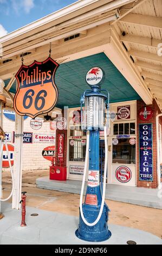
[[[139,180],[153,180],[152,124],[139,124]]]

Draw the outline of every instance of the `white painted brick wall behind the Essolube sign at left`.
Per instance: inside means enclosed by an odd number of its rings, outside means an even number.
[[[49,123],[43,123],[40,130],[33,130],[30,127],[30,120],[31,118],[28,117],[26,120],[24,120],[24,132],[33,132],[37,134],[43,134],[43,135],[54,135],[55,131],[51,131],[49,127]],[[13,132],[15,131],[15,121],[11,121],[3,115],[3,130],[5,132]],[[12,139],[11,139],[12,141]],[[12,142],[8,142],[8,144],[14,145]],[[23,143],[23,162],[22,162],[22,168],[23,170],[34,170],[34,169],[49,169],[50,161],[44,159],[42,156],[42,150],[48,146],[54,145],[53,143],[47,143],[47,142],[34,142],[33,144],[26,144]],[[8,168],[3,168],[3,170]]]

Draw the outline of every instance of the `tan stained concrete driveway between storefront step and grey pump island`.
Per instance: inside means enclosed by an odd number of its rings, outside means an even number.
[[[27,191],[27,206],[37,210],[53,212],[78,217],[79,216],[79,194],[43,190],[35,187],[38,176],[47,175],[48,171],[23,173],[22,190]],[[10,175],[3,173],[3,195],[8,196],[11,190]],[[11,200],[10,200],[11,202]],[[137,228],[162,238],[162,210],[153,209],[139,205],[106,200],[111,209],[109,212],[109,224]],[[1,222],[1,221],[0,221]],[[0,228],[1,230],[1,228]],[[161,240],[162,241],[162,240]]]

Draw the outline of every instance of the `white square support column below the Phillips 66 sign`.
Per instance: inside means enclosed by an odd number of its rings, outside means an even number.
[[[14,192],[12,209],[21,209],[23,117],[15,113]]]

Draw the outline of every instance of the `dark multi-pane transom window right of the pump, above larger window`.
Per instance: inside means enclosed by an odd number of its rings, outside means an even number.
[[[113,135],[135,135],[135,123],[113,124]]]

